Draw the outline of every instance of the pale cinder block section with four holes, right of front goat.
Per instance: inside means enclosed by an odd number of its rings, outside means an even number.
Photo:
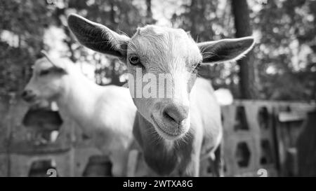
[[[275,175],[273,106],[268,101],[237,100],[222,108],[225,176],[258,176],[259,169]]]

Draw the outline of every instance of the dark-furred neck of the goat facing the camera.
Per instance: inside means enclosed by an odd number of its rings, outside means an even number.
[[[147,164],[159,175],[178,173],[175,170],[184,167],[192,158],[192,132],[188,132],[189,139],[166,141],[159,137],[150,122],[137,113],[133,134],[143,148]]]

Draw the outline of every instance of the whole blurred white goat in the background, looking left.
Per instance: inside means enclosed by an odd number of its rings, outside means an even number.
[[[22,93],[28,102],[56,101],[62,116],[77,122],[84,134],[112,162],[112,175],[125,176],[133,142],[136,107],[125,87],[101,87],[88,80],[69,59],[38,59]]]

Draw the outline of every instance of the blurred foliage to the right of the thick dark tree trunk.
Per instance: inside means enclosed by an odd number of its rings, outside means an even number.
[[[252,14],[261,32],[255,49],[268,99],[315,99],[316,2],[268,1]]]

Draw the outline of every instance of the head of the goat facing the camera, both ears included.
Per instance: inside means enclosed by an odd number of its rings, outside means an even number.
[[[183,29],[153,25],[138,28],[129,38],[78,15],[70,15],[68,24],[81,44],[126,63],[134,77],[129,88],[138,111],[169,140],[180,138],[190,128],[189,99],[197,66],[238,59],[254,45],[252,37],[195,43]],[[159,78],[160,74],[164,78]],[[137,80],[139,77],[143,80]],[[149,97],[139,96],[138,88],[144,90],[148,84],[157,89],[151,90]]]

